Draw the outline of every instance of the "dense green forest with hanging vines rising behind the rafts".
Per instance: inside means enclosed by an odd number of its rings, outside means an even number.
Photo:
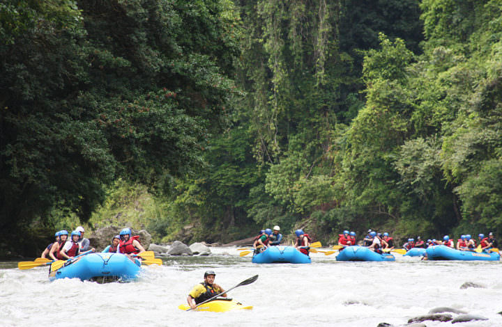
[[[501,233],[501,37],[502,0],[2,1],[0,253]]]

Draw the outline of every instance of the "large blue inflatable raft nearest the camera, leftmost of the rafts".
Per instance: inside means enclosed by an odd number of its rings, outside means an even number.
[[[49,279],[80,278],[81,280],[114,281],[137,278],[141,262],[134,262],[121,253],[89,253],[68,260],[65,266],[49,271]]]

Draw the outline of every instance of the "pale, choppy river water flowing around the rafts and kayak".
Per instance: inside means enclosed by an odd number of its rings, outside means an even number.
[[[211,248],[208,257],[167,257],[147,266],[135,282],[98,284],[47,279],[47,268],[21,271],[0,262],[0,326],[370,326],[401,325],[436,307],[489,318],[452,325],[502,326],[501,262],[426,262],[396,255],[396,262],[337,262],[312,254],[312,264],[252,264],[251,255]],[[253,310],[183,312],[204,271],[217,273],[225,289]],[[461,289],[464,282],[480,288]]]

